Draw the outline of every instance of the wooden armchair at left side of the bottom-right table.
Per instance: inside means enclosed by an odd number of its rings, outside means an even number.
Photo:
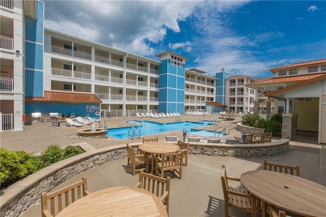
[[[222,165],[223,174],[221,176],[224,193],[225,216],[229,216],[229,207],[238,210],[251,212],[256,217],[256,197],[251,195],[246,188],[234,188],[229,186],[228,181],[239,181],[239,178],[227,176],[226,168]]]

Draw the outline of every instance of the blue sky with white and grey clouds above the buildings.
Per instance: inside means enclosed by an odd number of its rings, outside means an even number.
[[[326,1],[53,1],[45,28],[159,60],[164,51],[214,76],[326,58]]]

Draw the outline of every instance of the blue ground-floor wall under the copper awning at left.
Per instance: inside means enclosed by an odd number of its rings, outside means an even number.
[[[100,112],[100,103],[76,103],[76,106],[72,106],[71,102],[25,102],[25,113],[31,114],[33,112],[40,112],[42,114],[48,114],[50,112],[58,112],[62,115],[70,116],[70,113],[75,113],[77,116],[86,115],[96,116],[96,112]],[[95,105],[95,110],[92,112],[87,111],[87,105]]]

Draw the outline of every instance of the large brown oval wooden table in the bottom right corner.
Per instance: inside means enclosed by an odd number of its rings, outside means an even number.
[[[257,198],[282,210],[303,216],[326,215],[326,187],[315,182],[266,170],[242,173],[240,181]]]

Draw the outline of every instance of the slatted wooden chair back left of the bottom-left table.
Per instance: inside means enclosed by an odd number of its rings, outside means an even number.
[[[42,192],[41,193],[42,217],[56,216],[56,214],[61,212],[63,208],[66,208],[71,203],[89,194],[90,192],[87,189],[86,176],[84,176],[81,181],[78,181],[67,187],[59,189],[58,191],[49,194],[47,194],[46,192]],[[48,209],[48,204],[47,204],[48,200],[50,200],[49,203],[50,211]]]

